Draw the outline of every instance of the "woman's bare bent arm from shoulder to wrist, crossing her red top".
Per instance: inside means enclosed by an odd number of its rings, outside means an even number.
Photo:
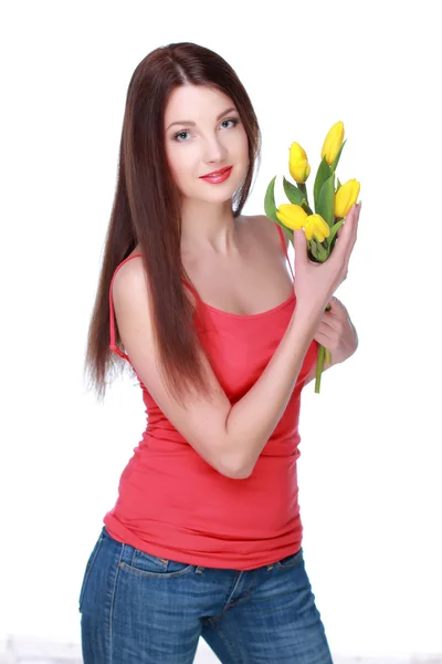
[[[249,477],[292,396],[320,309],[295,308],[271,361],[253,387],[233,406],[201,353],[210,400],[188,394],[185,406],[166,390],[140,260],[118,270],[113,288],[118,330],[130,362],[158,407],[196,452],[227,477]]]

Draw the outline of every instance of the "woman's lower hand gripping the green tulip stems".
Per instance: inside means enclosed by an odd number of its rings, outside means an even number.
[[[314,339],[330,351],[333,365],[354,354],[358,347],[358,335],[343,302],[333,297],[330,307],[324,312]]]

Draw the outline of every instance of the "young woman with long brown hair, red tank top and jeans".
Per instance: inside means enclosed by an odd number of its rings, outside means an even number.
[[[131,77],[86,369],[136,373],[147,428],[87,561],[85,664],[190,664],[202,636],[224,664],[332,662],[304,567],[299,397],[318,343],[356,349],[333,293],[359,209],[326,263],[244,216],[260,152],[232,68],[192,43]],[[326,304],[332,310],[324,313]],[[124,349],[124,350],[123,350]]]

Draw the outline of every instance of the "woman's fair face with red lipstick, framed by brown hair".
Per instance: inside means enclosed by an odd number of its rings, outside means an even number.
[[[166,155],[182,196],[224,203],[245,177],[249,142],[232,100],[202,85],[176,87],[165,113]],[[201,179],[232,166],[222,183]]]

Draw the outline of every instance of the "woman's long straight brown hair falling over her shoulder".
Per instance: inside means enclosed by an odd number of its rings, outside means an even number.
[[[249,138],[249,169],[232,198],[234,217],[241,214],[248,199],[260,159],[256,115],[244,86],[225,60],[190,42],[161,46],[141,60],[127,90],[118,178],[87,336],[84,372],[99,401],[105,395],[109,370],[125,362],[109,350],[110,280],[117,266],[138,243],[167,388],[179,401],[187,387],[207,394],[198,359],[201,345],[193,308],[181,282],[182,277],[188,277],[180,251],[180,193],[165,148],[166,104],[171,91],[186,84],[207,85],[230,96],[243,123]],[[117,326],[116,343],[122,345]]]

